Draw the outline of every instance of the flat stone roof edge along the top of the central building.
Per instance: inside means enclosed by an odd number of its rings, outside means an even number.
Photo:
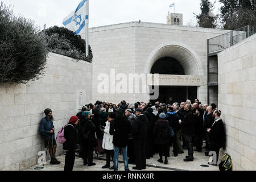
[[[163,28],[163,29],[181,30],[181,31],[208,32],[212,34],[225,34],[226,32],[230,31],[230,30],[221,30],[221,29],[214,29],[214,28],[177,26],[177,25],[164,24],[164,23],[127,22],[127,23],[119,23],[119,24],[110,24],[107,26],[92,27],[92,28],[89,28],[89,32],[114,30],[118,28],[127,28],[127,27]]]

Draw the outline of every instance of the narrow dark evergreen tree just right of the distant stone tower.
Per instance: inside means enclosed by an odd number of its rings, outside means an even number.
[[[212,7],[214,3],[209,0],[201,0],[200,9],[201,14],[196,15],[197,23],[199,27],[204,28],[216,28],[216,16],[212,13]]]

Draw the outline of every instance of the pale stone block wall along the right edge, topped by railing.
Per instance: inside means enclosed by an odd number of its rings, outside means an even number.
[[[219,108],[234,170],[256,170],[256,34],[218,54]]]

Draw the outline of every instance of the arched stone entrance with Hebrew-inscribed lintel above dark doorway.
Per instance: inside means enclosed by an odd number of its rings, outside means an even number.
[[[201,61],[196,53],[182,43],[164,43],[151,52],[146,61],[145,73],[159,74],[160,102],[171,104],[187,99],[202,98],[204,75]],[[151,100],[155,102],[156,100]],[[204,98],[203,98],[204,100]]]

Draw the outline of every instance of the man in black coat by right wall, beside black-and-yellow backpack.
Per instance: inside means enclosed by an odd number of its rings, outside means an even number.
[[[207,133],[210,134],[210,151],[215,151],[217,154],[216,162],[218,162],[218,153],[220,148],[224,147],[225,144],[225,129],[222,119],[220,118],[221,111],[216,108],[213,111],[214,122],[211,128],[207,129]],[[208,164],[210,164],[208,162]],[[217,166],[217,164],[210,164]]]

